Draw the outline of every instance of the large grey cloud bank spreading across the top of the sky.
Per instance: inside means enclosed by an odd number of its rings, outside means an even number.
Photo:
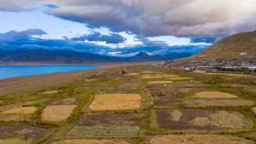
[[[1,0],[0,10],[54,4],[61,19],[141,36],[227,36],[255,30],[255,0]]]

